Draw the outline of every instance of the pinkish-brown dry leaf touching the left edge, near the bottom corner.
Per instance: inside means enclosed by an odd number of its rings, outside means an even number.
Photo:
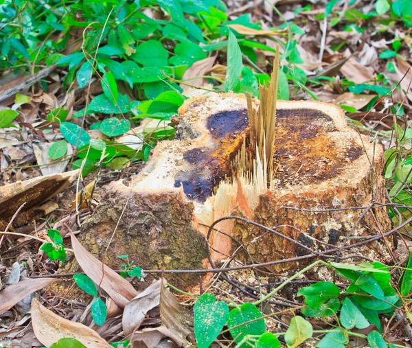
[[[58,281],[53,278],[27,279],[14,283],[0,292],[0,314],[10,310],[16,303],[46,286]]]

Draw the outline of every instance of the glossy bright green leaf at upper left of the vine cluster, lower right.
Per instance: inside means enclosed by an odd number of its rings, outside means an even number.
[[[328,299],[339,297],[340,294],[339,288],[330,281],[319,281],[297,292],[297,296],[304,296],[305,303],[314,310],[317,310]]]

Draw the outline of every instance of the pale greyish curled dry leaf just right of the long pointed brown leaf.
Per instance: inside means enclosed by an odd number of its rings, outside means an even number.
[[[124,308],[123,332],[124,335],[131,334],[139,327],[147,312],[159,305],[161,279],[153,281],[146,290],[137,295]]]

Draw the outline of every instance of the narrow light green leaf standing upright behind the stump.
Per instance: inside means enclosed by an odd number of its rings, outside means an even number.
[[[242,72],[242,53],[238,45],[238,39],[233,32],[229,32],[227,45],[227,71],[225,79],[225,91],[235,91],[240,81]]]

